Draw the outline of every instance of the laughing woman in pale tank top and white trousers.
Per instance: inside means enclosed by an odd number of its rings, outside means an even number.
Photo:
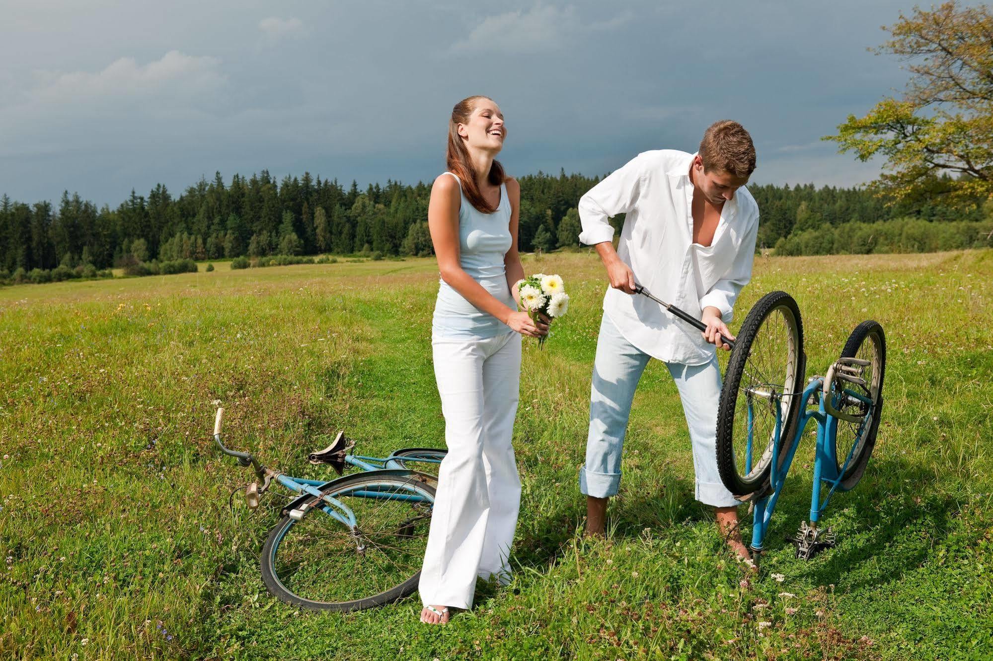
[[[520,187],[494,160],[506,127],[493,99],[452,110],[448,172],[435,180],[428,226],[441,284],[432,328],[448,455],[438,473],[421,570],[421,621],[444,624],[470,608],[478,576],[509,578],[520,480],[510,436],[517,411],[520,336],[548,332],[517,312],[514,283]]]

